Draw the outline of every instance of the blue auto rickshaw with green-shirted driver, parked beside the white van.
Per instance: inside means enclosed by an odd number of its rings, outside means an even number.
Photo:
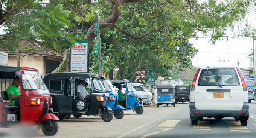
[[[125,110],[133,110],[137,114],[143,113],[143,101],[138,100],[138,93],[136,92],[136,89],[133,87],[131,82],[128,80],[111,80],[111,83],[116,87],[120,85],[122,87],[122,92],[127,93],[127,99],[118,100],[118,105],[122,105]]]

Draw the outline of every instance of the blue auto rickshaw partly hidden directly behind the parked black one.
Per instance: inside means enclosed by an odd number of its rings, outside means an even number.
[[[105,106],[108,106],[112,109],[112,112],[116,119],[122,119],[125,115],[125,113],[123,112],[125,108],[123,108],[121,105],[118,105],[118,93],[114,89],[112,83],[110,82],[110,79],[104,78],[102,80],[102,83],[106,88],[107,92],[109,93],[108,101],[106,102]]]

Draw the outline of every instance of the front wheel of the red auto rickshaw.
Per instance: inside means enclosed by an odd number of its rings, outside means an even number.
[[[49,122],[50,121],[50,122]],[[52,125],[51,125],[52,124]],[[44,120],[42,122],[42,132],[47,136],[55,135],[59,130],[59,125],[56,120]]]

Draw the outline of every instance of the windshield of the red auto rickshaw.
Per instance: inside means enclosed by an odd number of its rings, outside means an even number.
[[[38,71],[23,71],[21,74],[22,87],[25,90],[46,89],[47,87]]]

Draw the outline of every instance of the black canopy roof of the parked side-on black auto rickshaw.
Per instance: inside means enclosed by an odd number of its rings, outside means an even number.
[[[63,73],[48,73],[44,76],[44,79],[49,78],[55,80],[66,80],[71,79],[71,77],[81,77],[81,79],[86,77],[97,76],[94,73],[76,73],[76,72],[63,72]]]

